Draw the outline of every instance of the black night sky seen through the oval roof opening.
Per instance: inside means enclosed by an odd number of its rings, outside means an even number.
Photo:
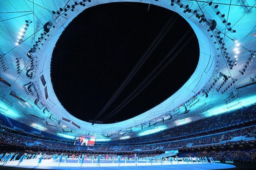
[[[94,119],[170,17],[178,15],[154,5],[149,11],[147,8],[148,4],[140,3],[98,5],[83,11],[64,30],[53,52],[51,78],[58,99],[72,115],[85,121]],[[151,84],[108,118],[190,28],[180,16],[135,77],[97,120],[113,123],[134,117],[184,85],[199,59],[196,36]],[[191,31],[183,43],[193,34]]]

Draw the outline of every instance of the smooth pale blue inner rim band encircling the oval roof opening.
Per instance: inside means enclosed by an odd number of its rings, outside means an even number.
[[[67,27],[67,25],[74,19],[78,14],[80,14],[83,10],[99,5],[104,3],[110,3],[110,2],[124,2],[122,0],[116,0],[116,1],[108,1],[108,0],[100,0],[95,1],[92,0],[90,3],[88,1],[85,2],[86,6],[80,6],[77,5],[72,12],[71,10],[68,10],[67,16],[64,17],[58,17],[56,20],[56,23],[54,23],[55,28],[51,28],[49,34],[51,35],[47,41],[44,43],[44,46],[41,48],[41,50],[38,51],[38,55],[40,56],[40,64],[39,64],[39,72],[37,72],[37,78],[41,75],[44,75],[46,86],[47,86],[47,92],[48,92],[48,98],[46,99],[44,96],[44,99],[47,101],[47,104],[52,112],[56,114],[60,119],[62,117],[67,118],[70,121],[69,125],[74,128],[78,129],[76,126],[72,125],[71,122],[76,123],[81,127],[80,130],[87,131],[87,132],[98,132],[98,133],[106,133],[111,131],[117,131],[117,129],[126,129],[129,128],[135,124],[139,124],[148,120],[153,119],[154,117],[157,117],[159,115],[152,114],[153,112],[157,112],[160,110],[169,111],[173,108],[177,107],[181,103],[188,100],[190,97],[192,97],[195,93],[200,91],[206,83],[209,81],[210,77],[212,76],[214,66],[215,66],[215,54],[216,51],[214,49],[213,42],[211,40],[211,37],[209,33],[207,32],[207,29],[209,27],[206,27],[204,23],[199,23],[198,19],[196,17],[190,17],[187,18],[187,13],[183,12],[183,9],[181,9],[178,5],[170,6],[170,1],[143,1],[143,3],[150,3],[154,4],[172,11],[175,11],[176,13],[180,14],[192,27],[194,30],[198,40],[199,40],[199,48],[200,48],[200,56],[199,56],[199,62],[197,65],[197,68],[193,75],[190,77],[190,79],[172,96],[170,96],[168,99],[163,101],[162,103],[158,104],[157,106],[153,107],[152,109],[125,121],[118,122],[118,123],[112,123],[112,124],[94,124],[92,125],[89,122],[82,121],[74,116],[72,116],[59,102],[51,83],[51,77],[50,77],[50,64],[51,64],[51,57],[52,52],[54,50],[55,44],[58,41],[59,36],[63,32],[63,30]],[[132,0],[129,2],[141,2]],[[165,4],[166,3],[166,4]],[[168,4],[167,4],[168,3]],[[69,4],[70,6],[72,4]],[[57,10],[57,9],[56,9]],[[191,15],[191,14],[190,14]],[[175,30],[173,30],[175,31]],[[86,34],[86,33],[85,33]],[[190,56],[188,54],[188,60]],[[40,80],[38,80],[40,81]],[[72,78],[70,78],[70,81],[72,83]],[[45,86],[40,83],[40,89],[41,92],[44,94]],[[152,114],[152,115],[151,115]],[[150,115],[150,116],[149,116]],[[65,122],[67,123],[67,122]],[[79,129],[78,129],[79,130]]]

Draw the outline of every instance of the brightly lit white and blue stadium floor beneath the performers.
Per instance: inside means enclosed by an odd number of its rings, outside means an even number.
[[[62,160],[64,161],[64,160]],[[100,167],[96,167],[97,161],[94,161],[91,163],[91,160],[84,160],[83,166],[80,167],[80,163],[77,163],[78,160],[67,160],[67,162],[61,162],[60,166],[58,166],[58,162],[52,162],[52,160],[42,160],[42,163],[37,166],[38,159],[30,159],[30,160],[24,160],[19,166],[18,160],[16,161],[9,161],[4,166],[11,166],[11,167],[22,167],[22,168],[32,168],[32,169],[58,169],[58,170],[76,170],[76,169],[101,169],[101,170],[146,170],[146,169],[153,169],[154,170],[163,170],[164,169],[172,169],[172,170],[210,170],[210,169],[226,169],[226,168],[235,168],[234,165],[230,164],[222,164],[222,163],[195,163],[189,162],[173,162],[171,165],[170,162],[163,162],[163,165],[161,165],[160,162],[153,162],[153,165],[151,166],[150,163],[147,163],[146,161],[138,161],[137,165],[135,166],[134,161],[127,161],[127,163],[124,163],[122,161],[120,163],[120,167],[118,167],[117,161],[114,161],[112,163],[112,160],[101,160],[100,161]],[[0,164],[2,165],[2,163]]]

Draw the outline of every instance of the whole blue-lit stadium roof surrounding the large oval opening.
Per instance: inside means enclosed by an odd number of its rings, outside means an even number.
[[[135,0],[129,2],[170,9],[191,25],[200,47],[194,74],[168,99],[134,118],[92,125],[72,116],[52,87],[52,52],[74,17],[89,7],[110,2],[124,1],[0,1],[2,114],[52,133],[104,139],[107,135],[119,138],[120,133],[129,131],[148,134],[255,102],[254,1]]]

